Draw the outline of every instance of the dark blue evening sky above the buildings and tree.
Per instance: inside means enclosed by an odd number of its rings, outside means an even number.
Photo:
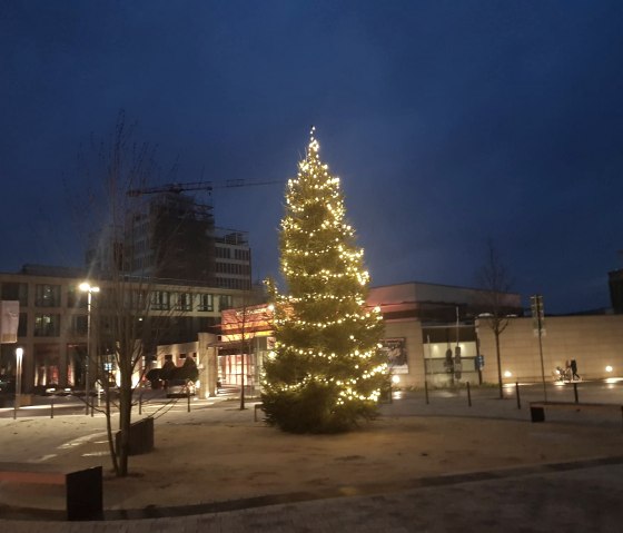
[[[619,0],[2,0],[0,49],[1,272],[81,264],[77,155],[125,109],[179,181],[285,181],[315,125],[373,285],[474,286],[491,238],[526,302],[610,305]],[[257,278],[277,272],[283,198],[214,194]]]

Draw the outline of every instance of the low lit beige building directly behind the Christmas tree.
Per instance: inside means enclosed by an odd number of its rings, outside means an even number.
[[[497,383],[495,335],[482,302],[481,290],[464,287],[407,283],[370,288],[367,304],[380,307],[382,344],[394,382],[407,388],[425,383],[442,387]],[[532,317],[522,316],[520,295],[506,294],[504,302],[508,310],[500,337],[504,383],[552,381],[555,368],[571,359],[585,379],[623,375],[623,315],[546,317],[540,346]],[[245,376],[244,383],[257,389],[274,342],[270,316],[267,305],[228,309],[220,336],[202,348],[200,343],[192,345],[200,359],[210,361],[211,373],[205,378],[240,385]],[[164,347],[161,354],[175,349]]]

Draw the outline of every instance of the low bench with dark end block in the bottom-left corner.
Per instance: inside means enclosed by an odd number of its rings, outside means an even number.
[[[0,463],[0,481],[19,484],[65,485],[67,520],[101,520],[101,466],[76,470],[39,463]]]

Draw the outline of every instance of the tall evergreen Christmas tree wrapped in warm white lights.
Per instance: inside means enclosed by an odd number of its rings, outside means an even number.
[[[276,343],[261,398],[267,421],[294,433],[340,432],[373,418],[388,383],[380,313],[365,304],[363,250],[345,221],[339,179],[318,150],[312,129],[281,220],[287,293],[270,286]]]

